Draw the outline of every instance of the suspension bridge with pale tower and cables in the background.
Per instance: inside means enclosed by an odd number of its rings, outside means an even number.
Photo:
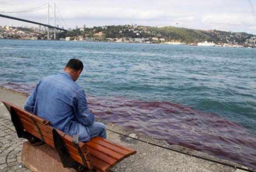
[[[51,9],[51,13],[53,14],[52,18],[54,18],[54,25],[50,25],[50,18],[51,18],[50,9]],[[22,19],[20,17],[14,17],[14,16],[10,16],[10,15],[3,15],[3,14],[1,14],[1,13],[9,13],[9,14],[31,13],[31,12],[38,12],[38,11],[42,11],[42,10],[47,10],[47,13],[48,13],[48,15],[47,15],[48,24],[43,24],[43,23],[40,23],[40,22],[37,22],[37,21],[26,20],[26,19]],[[56,16],[56,14],[57,14],[56,12],[58,12],[58,15],[61,17],[61,19],[63,21],[62,24],[58,20],[58,17]],[[58,10],[58,7],[56,6],[55,3],[46,3],[46,4],[42,5],[42,6],[35,7],[35,8],[32,8],[32,9],[29,9],[29,10],[0,11],[0,17],[12,19],[12,20],[23,21],[23,22],[27,22],[27,23],[31,23],[31,24],[38,24],[38,25],[47,27],[47,38],[48,38],[48,40],[50,39],[50,36],[49,36],[49,29],[50,28],[54,30],[54,39],[56,39],[56,30],[67,31],[67,29],[65,29],[65,27],[68,28],[66,23],[65,23],[65,20],[61,16],[61,13]],[[58,21],[57,27],[56,27],[56,20]],[[62,25],[62,28],[58,27],[59,25]],[[65,25],[65,27],[63,25]]]

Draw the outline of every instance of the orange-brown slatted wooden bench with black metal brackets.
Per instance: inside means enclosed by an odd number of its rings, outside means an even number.
[[[83,170],[98,169],[105,172],[117,162],[136,153],[135,150],[117,145],[101,137],[91,138],[89,142],[78,141],[56,128],[50,122],[2,101],[11,115],[11,120],[19,138],[26,138],[31,144],[47,143],[56,148],[64,167]],[[86,169],[84,168],[84,169]]]

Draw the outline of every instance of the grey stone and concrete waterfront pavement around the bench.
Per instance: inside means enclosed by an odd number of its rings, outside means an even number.
[[[0,100],[7,100],[14,105],[23,107],[27,99],[26,94],[20,94],[15,91],[0,88]],[[93,110],[93,109],[92,109]],[[104,122],[104,121],[103,121]],[[217,159],[202,152],[191,150],[177,145],[168,145],[167,142],[159,141],[139,132],[135,132],[122,126],[106,124],[107,138],[120,145],[124,145],[137,150],[137,154],[124,159],[115,165],[112,171],[122,172],[243,172],[219,163],[185,155],[179,152],[161,148],[156,145],[172,148],[177,151],[198,155],[215,161],[225,162],[230,165],[238,165],[234,162]],[[112,132],[113,131],[113,132]],[[116,132],[122,134],[119,135]],[[138,138],[145,142],[138,141]],[[10,115],[5,106],[0,102],[0,172],[30,172],[21,162],[22,144],[26,141],[23,138],[17,138],[14,126],[10,120]],[[156,145],[148,144],[153,143]]]

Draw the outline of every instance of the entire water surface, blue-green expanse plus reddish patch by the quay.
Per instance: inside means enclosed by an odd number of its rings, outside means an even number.
[[[0,40],[0,85],[30,93],[72,57],[97,118],[256,168],[256,49]]]

